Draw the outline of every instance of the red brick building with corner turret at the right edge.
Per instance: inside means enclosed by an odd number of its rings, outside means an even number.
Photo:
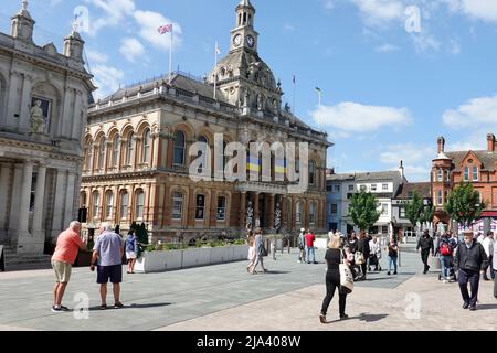
[[[487,136],[487,149],[482,151],[445,151],[445,139],[438,138],[438,156],[432,163],[432,195],[436,207],[435,223],[450,224],[444,204],[452,190],[462,182],[469,182],[487,203],[479,222],[483,232],[497,225],[497,141]]]

